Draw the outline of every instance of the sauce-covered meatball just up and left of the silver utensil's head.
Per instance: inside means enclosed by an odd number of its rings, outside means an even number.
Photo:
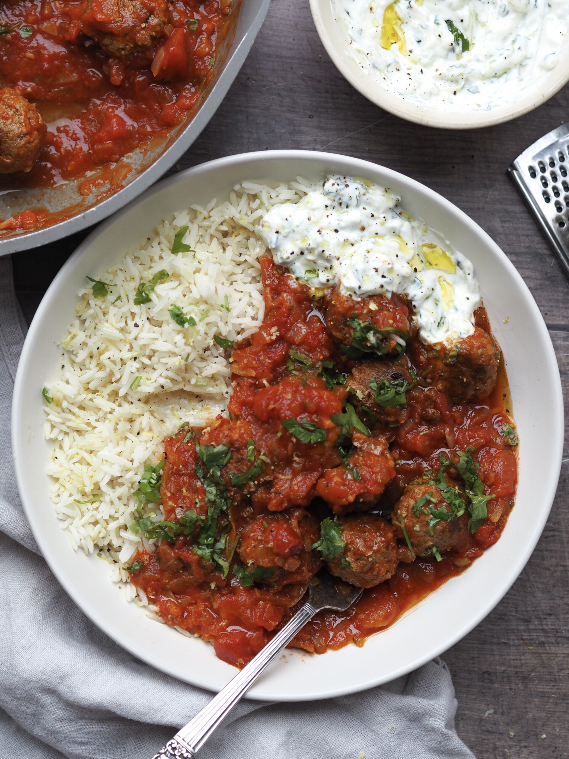
[[[255,581],[306,584],[322,566],[312,550],[319,537],[316,520],[304,509],[260,515],[241,533],[239,558]]]

